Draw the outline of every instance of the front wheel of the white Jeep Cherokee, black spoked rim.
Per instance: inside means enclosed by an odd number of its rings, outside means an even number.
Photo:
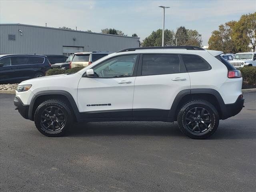
[[[73,114],[66,102],[49,99],[36,108],[34,121],[36,128],[45,136],[62,136],[72,125]]]

